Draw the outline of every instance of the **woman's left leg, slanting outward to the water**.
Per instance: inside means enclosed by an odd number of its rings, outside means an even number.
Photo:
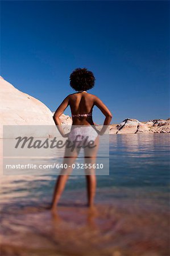
[[[68,177],[72,172],[72,164],[75,162],[77,155],[78,155],[78,150],[76,148],[73,152],[71,152],[69,148],[65,148],[63,166],[64,164],[67,164],[67,166],[71,166],[71,167],[68,167],[66,169],[63,168],[60,172],[60,175],[57,178],[55,191],[53,192],[53,199],[52,199],[52,206],[51,206],[52,210],[55,210],[57,207],[57,204],[59,203],[61,194],[63,193],[63,190],[65,188],[65,184],[67,183]]]

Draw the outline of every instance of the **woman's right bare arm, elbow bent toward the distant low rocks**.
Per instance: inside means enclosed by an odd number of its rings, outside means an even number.
[[[100,134],[102,135],[103,133],[105,133],[107,127],[110,125],[112,114],[111,114],[110,110],[106,107],[106,105],[103,104],[103,102],[96,96],[94,98],[94,105],[96,105],[97,108],[99,108],[101,110],[101,112],[105,115],[105,121],[104,121],[103,127],[100,131]]]

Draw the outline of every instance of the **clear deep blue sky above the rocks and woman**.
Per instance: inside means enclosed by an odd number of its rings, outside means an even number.
[[[55,111],[78,67],[113,123],[167,119],[169,2],[1,1],[1,76]]]

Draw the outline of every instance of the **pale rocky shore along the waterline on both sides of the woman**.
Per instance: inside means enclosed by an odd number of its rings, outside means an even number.
[[[53,113],[41,101],[20,92],[0,76],[0,138],[3,138],[3,125],[50,125],[53,122]],[[61,123],[72,125],[72,118],[62,114]],[[97,125],[97,124],[96,124]],[[97,125],[99,128],[101,125]],[[119,124],[111,124],[110,134],[138,134],[138,133],[170,133],[170,119],[153,119],[140,122],[137,119],[127,118]],[[47,129],[37,129],[34,136],[49,137]],[[53,133],[53,132],[51,132]],[[30,129],[28,134],[32,135]],[[14,138],[11,133],[10,138]]]

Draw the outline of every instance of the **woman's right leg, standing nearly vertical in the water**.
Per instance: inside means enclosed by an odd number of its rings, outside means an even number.
[[[95,141],[96,147],[94,148],[85,148],[85,163],[86,164],[93,164],[96,163],[96,155],[98,151],[99,145],[99,138],[96,138]],[[95,168],[86,168],[86,184],[87,184],[87,195],[88,195],[88,206],[93,207],[94,205],[94,197],[96,195],[96,174]]]

